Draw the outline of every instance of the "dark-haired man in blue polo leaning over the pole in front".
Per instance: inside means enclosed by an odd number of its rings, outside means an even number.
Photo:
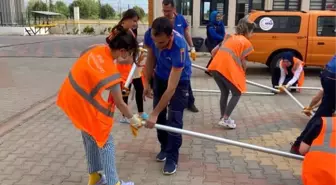
[[[153,112],[146,127],[153,128],[155,123],[175,128],[183,128],[183,111],[188,106],[191,61],[188,46],[181,34],[173,31],[169,19],[160,17],[154,20],[152,28],[145,33],[147,62],[144,95],[150,97],[148,85],[154,70]],[[169,105],[168,105],[169,104]],[[168,106],[168,108],[167,108]],[[167,117],[168,109],[168,117]],[[167,120],[168,119],[168,120]],[[161,151],[157,161],[164,162],[164,174],[174,174],[182,145],[182,135],[157,130]]]

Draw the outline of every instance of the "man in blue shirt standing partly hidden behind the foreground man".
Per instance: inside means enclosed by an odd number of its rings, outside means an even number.
[[[176,13],[174,0],[163,0],[162,11],[163,15],[168,18],[173,24],[174,30],[179,32],[186,39],[188,45],[191,48],[191,56],[194,56],[193,60],[195,60],[196,50],[189,32],[189,25],[183,15]],[[191,112],[198,112],[198,109],[195,106],[195,97],[193,95],[191,85],[189,87],[188,110],[190,110]]]

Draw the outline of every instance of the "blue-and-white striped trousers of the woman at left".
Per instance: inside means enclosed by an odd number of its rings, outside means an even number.
[[[103,171],[106,175],[107,185],[117,184],[119,177],[115,163],[115,147],[112,134],[110,134],[103,148],[99,148],[95,140],[86,132],[82,132],[82,138],[89,173]]]

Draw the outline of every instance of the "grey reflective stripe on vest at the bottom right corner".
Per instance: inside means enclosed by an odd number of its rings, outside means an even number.
[[[326,129],[324,133],[324,141],[322,146],[311,146],[310,152],[326,152],[336,154],[336,148],[331,148],[331,136],[333,134],[333,121],[331,117],[327,117],[326,119]]]

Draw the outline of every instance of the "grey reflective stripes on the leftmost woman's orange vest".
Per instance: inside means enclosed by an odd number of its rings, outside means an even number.
[[[114,74],[110,77],[107,77],[103,80],[101,80],[95,88],[92,89],[90,94],[87,94],[83,88],[81,88],[77,82],[74,80],[73,76],[71,73],[68,75],[70,84],[72,87],[75,89],[75,91],[86,101],[88,101],[92,106],[94,106],[99,112],[103,113],[104,115],[113,118],[114,112],[111,110],[103,107],[97,100],[94,99],[94,96],[99,92],[100,88],[103,87],[104,85],[108,84],[109,82],[116,80],[120,78],[119,74]],[[94,95],[94,96],[92,96]]]

